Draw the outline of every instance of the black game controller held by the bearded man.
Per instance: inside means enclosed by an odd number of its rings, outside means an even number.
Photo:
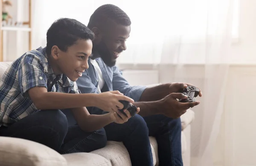
[[[184,88],[180,93],[183,93],[184,95],[188,96],[186,99],[180,99],[179,101],[182,103],[187,102],[195,102],[195,97],[199,94],[199,89],[194,86],[188,86],[187,88]]]

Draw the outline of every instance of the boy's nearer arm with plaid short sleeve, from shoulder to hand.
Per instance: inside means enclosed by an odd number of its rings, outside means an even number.
[[[35,54],[27,53],[20,62],[18,79],[20,91],[24,97],[30,97],[38,110],[67,109],[77,107],[99,107],[102,110],[117,111],[123,107],[119,100],[133,102],[131,98],[119,92],[101,94],[68,94],[47,92],[47,67]],[[77,88],[76,82],[74,87]]]

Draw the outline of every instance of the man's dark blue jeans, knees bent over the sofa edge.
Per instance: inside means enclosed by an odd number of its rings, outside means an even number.
[[[180,118],[135,115],[124,124],[111,123],[104,129],[109,141],[124,143],[132,166],[153,166],[148,135],[157,140],[159,166],[183,166]]]

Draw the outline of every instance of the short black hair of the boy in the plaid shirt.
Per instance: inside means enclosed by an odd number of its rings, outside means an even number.
[[[47,31],[46,53],[51,55],[52,46],[57,45],[61,51],[75,44],[78,39],[93,41],[93,32],[84,24],[75,19],[60,18],[52,23]]]

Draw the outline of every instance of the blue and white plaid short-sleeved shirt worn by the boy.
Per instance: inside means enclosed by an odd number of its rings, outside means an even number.
[[[23,54],[7,68],[0,82],[0,126],[9,126],[38,109],[28,96],[33,87],[46,87],[56,78],[48,64],[46,48]],[[52,92],[80,93],[76,82],[61,74]]]

